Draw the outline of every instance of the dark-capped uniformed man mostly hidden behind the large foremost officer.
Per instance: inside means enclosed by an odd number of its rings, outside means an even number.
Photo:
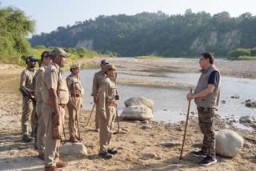
[[[45,149],[45,141],[46,141],[46,126],[42,117],[42,74],[46,70],[46,66],[51,63],[50,52],[44,51],[41,54],[41,66],[34,75],[35,81],[35,91],[34,96],[37,99],[36,111],[38,114],[38,133],[37,133],[37,141],[38,141],[38,158],[44,160],[44,149]]]

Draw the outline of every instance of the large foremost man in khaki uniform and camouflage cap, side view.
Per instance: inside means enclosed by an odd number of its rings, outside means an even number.
[[[57,168],[67,165],[66,161],[59,159],[60,139],[56,139],[55,135],[62,134],[64,107],[69,101],[66,79],[61,70],[69,54],[61,48],[55,48],[50,54],[52,62],[42,74],[42,117],[46,126],[46,171],[58,170]],[[55,128],[58,128],[58,133]]]

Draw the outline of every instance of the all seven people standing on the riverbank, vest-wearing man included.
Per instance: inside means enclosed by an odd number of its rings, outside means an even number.
[[[70,66],[70,76],[64,78],[62,66],[66,62],[66,54],[61,48],[51,52],[45,51],[41,55],[42,65],[34,70],[38,60],[32,56],[26,58],[27,68],[21,74],[21,88],[26,87],[30,94],[36,97],[36,113],[38,121],[32,121],[32,133],[37,133],[38,157],[45,160],[45,170],[58,170],[67,165],[59,159],[60,137],[63,131],[65,105],[69,111],[70,142],[81,141],[78,133],[78,113],[82,105],[84,89],[78,77],[80,66]],[[211,53],[200,55],[199,64],[202,68],[201,76],[194,93],[188,93],[187,100],[195,99],[198,108],[199,127],[204,135],[202,149],[192,154],[204,157],[200,165],[211,165],[217,162],[215,157],[214,116],[218,108],[220,94],[220,74],[214,66],[214,56]],[[115,83],[116,67],[105,59],[101,62],[102,70],[94,74],[91,95],[96,104],[95,131],[99,132],[99,155],[110,159],[118,153],[110,149],[110,139],[117,112],[118,89]],[[34,84],[33,87],[33,78]],[[33,112],[33,102],[23,95],[22,105],[22,140],[32,141],[28,131],[28,121]],[[34,118],[34,117],[32,117]],[[77,121],[77,122],[76,122]],[[34,123],[37,123],[34,124]],[[36,129],[38,129],[36,131]]]

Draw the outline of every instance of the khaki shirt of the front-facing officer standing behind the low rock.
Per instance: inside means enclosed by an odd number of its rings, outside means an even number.
[[[70,96],[71,94],[78,93],[79,97],[82,97],[84,94],[84,89],[82,87],[82,82],[78,76],[74,76],[74,74],[70,74],[69,77],[66,78],[66,85],[69,89]],[[75,90],[75,92],[74,92]]]

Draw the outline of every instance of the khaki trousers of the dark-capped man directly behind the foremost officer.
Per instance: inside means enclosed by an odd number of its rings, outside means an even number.
[[[42,101],[37,103],[36,110],[38,114],[38,153],[43,154],[46,142],[46,125],[42,117]]]

